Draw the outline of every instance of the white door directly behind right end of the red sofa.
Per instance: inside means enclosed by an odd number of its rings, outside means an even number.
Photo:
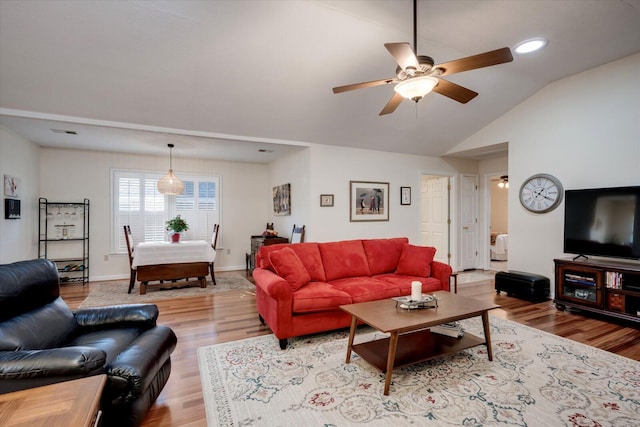
[[[423,175],[421,192],[421,244],[435,247],[435,260],[449,264],[449,178]]]

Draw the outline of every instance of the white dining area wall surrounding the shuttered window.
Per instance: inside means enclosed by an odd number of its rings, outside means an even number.
[[[167,158],[98,151],[42,148],[40,194],[49,201],[82,201],[88,198],[90,213],[90,279],[127,277],[126,255],[111,253],[111,169],[165,171]],[[222,175],[222,226],[216,269],[245,267],[250,235],[264,228],[269,206],[264,195],[269,171],[266,165],[215,160],[173,158],[180,173]],[[37,224],[33,219],[33,224]],[[229,253],[227,253],[229,251]]]

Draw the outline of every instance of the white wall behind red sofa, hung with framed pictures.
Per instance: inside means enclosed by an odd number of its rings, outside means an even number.
[[[420,244],[421,175],[447,175],[455,182],[460,173],[477,173],[476,161],[328,145],[311,145],[309,150],[311,227],[306,231],[307,241],[406,236],[414,244]],[[388,222],[349,221],[349,181],[389,183]],[[411,187],[411,205],[400,205],[400,187]],[[334,206],[320,207],[320,194],[333,194]]]

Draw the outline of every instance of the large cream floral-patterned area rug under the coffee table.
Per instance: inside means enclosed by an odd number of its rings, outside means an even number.
[[[480,318],[465,330],[482,335]],[[640,426],[640,363],[491,316],[484,346],[384,375],[344,331],[198,349],[209,426]],[[356,342],[380,336],[363,328]]]

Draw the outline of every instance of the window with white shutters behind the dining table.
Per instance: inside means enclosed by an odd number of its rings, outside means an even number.
[[[158,192],[163,174],[112,171],[112,253],[127,251],[123,226],[131,227],[134,244],[168,240],[165,222],[180,215],[189,224],[185,238],[209,240],[213,225],[220,223],[220,176],[180,175],[184,193],[166,196]]]

